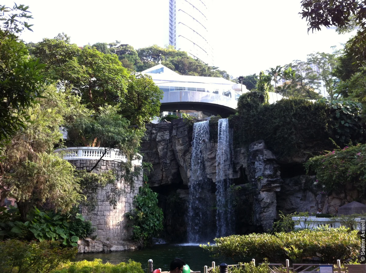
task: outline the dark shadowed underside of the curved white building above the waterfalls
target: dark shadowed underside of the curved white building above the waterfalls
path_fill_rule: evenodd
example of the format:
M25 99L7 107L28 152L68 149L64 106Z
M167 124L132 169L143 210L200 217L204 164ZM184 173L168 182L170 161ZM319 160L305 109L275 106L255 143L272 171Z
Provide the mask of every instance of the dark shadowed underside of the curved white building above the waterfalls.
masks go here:
M227 118L229 115L236 113L235 109L225 107L223 105L213 104L213 103L202 103L202 102L161 103L160 112L173 111L173 110L203 111L203 112L208 112L213 115L220 115L223 118Z

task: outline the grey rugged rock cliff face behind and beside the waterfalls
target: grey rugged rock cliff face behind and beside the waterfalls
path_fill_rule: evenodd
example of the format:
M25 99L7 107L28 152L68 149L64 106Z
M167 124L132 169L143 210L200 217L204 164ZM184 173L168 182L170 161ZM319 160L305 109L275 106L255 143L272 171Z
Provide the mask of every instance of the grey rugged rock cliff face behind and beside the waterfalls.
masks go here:
M192 126L183 119L146 125L146 137L141 145L143 161L153 164L148 174L149 184L159 193L159 204L165 216L165 238L186 241L186 212L190 198ZM211 140L204 155L206 175L212 181L212 200L216 192L217 139ZM263 140L233 151L233 166L229 177L234 183L236 233L265 231L272 227L278 212L335 213L335 208L357 198L354 189L342 193L321 193L314 186L315 177L303 175L302 163L308 155L277 161ZM281 166L280 166L281 164ZM281 171L285 175L281 177ZM208 204L208 209L214 206ZM212 219L216 224L216 219Z

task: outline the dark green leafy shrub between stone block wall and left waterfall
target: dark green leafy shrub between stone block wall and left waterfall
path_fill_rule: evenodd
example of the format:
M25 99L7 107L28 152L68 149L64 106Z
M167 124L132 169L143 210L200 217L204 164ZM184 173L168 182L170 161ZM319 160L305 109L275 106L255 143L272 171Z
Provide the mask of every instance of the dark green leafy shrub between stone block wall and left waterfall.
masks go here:
M134 240L142 247L152 243L152 238L163 230L163 211L158 207L158 194L147 183L139 187L139 194L134 197L136 206L127 216L133 221Z

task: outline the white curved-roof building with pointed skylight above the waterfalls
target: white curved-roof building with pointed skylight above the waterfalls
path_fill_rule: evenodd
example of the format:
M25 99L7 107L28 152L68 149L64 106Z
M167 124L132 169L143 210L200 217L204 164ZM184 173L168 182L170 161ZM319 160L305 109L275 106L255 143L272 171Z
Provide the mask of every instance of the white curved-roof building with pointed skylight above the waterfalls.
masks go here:
M222 77L180 75L162 64L141 73L150 76L164 92L164 97L160 100L160 112L195 110L226 118L236 113L236 99L249 92L245 85ZM273 103L281 98L279 94L270 93L269 102Z

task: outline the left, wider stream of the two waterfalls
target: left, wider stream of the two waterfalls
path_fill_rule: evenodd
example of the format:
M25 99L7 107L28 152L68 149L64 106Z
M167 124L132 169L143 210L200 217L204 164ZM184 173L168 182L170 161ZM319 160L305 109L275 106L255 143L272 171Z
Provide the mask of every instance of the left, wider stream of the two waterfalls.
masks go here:
M212 221L208 213L210 183L205 171L204 155L209 142L209 122L193 124L192 156L188 189L190 194L188 208L188 242L199 243L212 239L206 226Z

